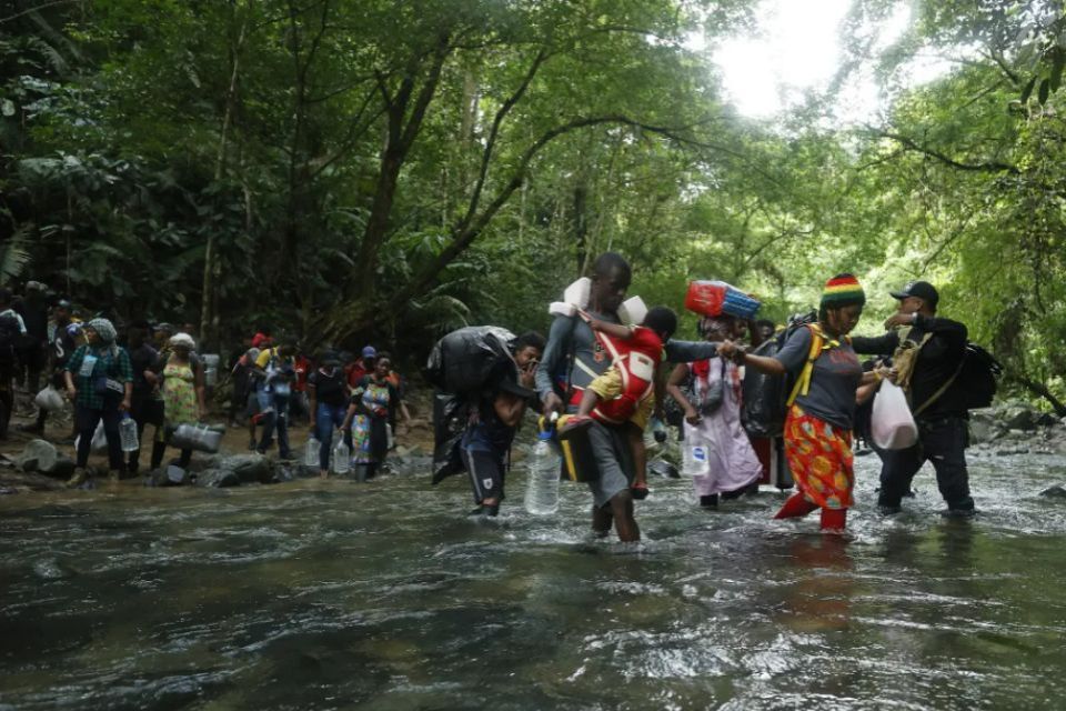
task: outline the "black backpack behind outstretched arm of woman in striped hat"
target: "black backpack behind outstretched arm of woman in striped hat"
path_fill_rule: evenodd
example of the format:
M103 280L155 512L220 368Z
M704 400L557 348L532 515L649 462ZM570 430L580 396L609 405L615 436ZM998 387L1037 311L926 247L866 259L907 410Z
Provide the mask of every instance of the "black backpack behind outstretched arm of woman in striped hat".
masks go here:
M752 353L767 358L776 356L785 342L808 323L818 320L816 312L794 313L788 317L788 326L776 336L763 342ZM795 377L791 374L771 375L754 368L744 370L741 405L741 424L751 437L781 437L785 431L785 417L788 414L788 394L795 387Z

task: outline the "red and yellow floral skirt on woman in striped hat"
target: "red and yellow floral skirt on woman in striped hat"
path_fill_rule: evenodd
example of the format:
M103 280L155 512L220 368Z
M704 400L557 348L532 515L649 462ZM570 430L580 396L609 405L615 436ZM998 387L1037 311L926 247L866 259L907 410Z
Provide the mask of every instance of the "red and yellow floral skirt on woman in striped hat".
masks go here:
M785 458L804 497L822 509L854 504L852 433L792 405L785 420Z

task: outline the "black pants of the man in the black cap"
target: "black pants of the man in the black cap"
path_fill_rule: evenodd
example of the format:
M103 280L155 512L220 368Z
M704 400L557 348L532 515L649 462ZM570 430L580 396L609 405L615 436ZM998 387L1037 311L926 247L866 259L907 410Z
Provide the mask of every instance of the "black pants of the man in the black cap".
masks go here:
M926 461L936 470L936 485L952 509L969 510L969 473L966 471L966 445L969 433L965 418L942 417L918 420L918 443L909 449L879 450L879 505L897 507L911 491L911 481Z

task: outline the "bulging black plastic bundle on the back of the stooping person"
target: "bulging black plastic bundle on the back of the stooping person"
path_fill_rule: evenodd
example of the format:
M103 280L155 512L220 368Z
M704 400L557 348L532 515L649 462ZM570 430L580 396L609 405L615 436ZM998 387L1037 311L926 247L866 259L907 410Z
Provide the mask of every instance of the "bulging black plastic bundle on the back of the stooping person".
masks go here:
M473 397L492 378L510 374L517 381L512 341L514 333L495 326L469 326L452 331L430 352L426 380L444 392Z

